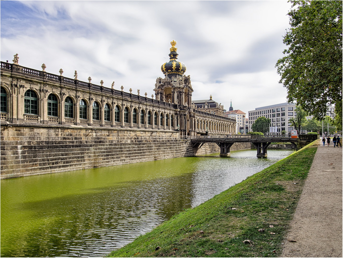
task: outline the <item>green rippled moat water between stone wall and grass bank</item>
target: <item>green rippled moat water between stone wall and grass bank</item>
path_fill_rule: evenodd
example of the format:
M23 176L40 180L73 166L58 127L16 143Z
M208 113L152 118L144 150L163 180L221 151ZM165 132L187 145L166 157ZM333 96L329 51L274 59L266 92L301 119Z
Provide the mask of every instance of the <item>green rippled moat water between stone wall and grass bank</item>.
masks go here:
M256 150L1 180L1 257L104 256L293 151Z

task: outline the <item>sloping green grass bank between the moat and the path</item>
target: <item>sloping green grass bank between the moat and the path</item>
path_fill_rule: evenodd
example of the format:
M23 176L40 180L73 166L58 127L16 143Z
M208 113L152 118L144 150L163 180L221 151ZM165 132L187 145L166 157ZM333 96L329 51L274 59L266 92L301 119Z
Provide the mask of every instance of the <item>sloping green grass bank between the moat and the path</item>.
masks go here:
M280 256L317 146L308 144L109 256Z

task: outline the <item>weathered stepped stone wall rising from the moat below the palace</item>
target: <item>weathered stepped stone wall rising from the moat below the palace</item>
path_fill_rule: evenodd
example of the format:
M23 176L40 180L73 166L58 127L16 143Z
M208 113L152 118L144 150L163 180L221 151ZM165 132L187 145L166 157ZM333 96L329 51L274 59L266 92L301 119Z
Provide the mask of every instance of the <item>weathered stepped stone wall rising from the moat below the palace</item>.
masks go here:
M1 179L220 152L175 131L1 125ZM250 149L235 143L233 150Z

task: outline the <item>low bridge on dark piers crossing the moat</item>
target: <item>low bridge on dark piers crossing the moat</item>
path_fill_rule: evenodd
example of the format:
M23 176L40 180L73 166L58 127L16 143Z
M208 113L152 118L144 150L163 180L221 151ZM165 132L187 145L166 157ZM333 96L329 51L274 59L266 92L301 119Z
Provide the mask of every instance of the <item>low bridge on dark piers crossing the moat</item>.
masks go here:
M257 157L267 157L267 147L272 142L291 142L295 147L298 138L285 135L225 135L225 136L192 136L190 137L193 148L200 149L205 142L214 142L220 147L220 156L229 156L230 147L235 142L251 142L257 148Z

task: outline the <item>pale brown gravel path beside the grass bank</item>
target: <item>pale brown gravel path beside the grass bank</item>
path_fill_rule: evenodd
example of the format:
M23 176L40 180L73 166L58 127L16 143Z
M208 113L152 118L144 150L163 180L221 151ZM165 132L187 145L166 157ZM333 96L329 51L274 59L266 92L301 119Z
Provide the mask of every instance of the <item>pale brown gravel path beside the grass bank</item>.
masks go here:
M282 257L342 257L342 148L333 143L319 141Z

